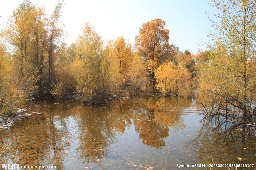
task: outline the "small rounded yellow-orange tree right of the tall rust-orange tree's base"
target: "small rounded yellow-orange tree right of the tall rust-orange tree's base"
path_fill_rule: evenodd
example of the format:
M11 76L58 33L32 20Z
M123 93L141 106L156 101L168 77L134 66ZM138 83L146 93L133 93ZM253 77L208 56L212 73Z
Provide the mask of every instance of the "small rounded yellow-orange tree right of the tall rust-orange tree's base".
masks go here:
M180 95L190 86L191 73L182 65L175 65L174 62L162 64L155 71L156 87L161 89L164 95Z

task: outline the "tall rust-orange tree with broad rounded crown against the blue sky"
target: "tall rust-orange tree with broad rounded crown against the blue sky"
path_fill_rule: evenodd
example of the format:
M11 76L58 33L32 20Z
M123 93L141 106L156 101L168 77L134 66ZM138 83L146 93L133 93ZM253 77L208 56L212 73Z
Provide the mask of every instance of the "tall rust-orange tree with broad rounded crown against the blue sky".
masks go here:
M156 18L143 23L139 35L135 37L134 47L146 61L151 79L154 80L155 70L164 62L174 59L179 48L169 44L169 30L164 29L165 21Z

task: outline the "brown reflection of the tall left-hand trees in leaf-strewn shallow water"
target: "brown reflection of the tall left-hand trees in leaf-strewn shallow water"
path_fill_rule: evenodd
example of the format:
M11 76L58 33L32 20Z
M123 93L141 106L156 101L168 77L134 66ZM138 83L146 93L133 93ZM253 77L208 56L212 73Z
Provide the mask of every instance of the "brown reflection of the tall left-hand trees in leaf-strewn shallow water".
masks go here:
M65 151L71 147L72 140L62 140L72 136L67 116L48 106L44 111L33 111L36 116L28 116L2 133L0 143L9 145L5 153L1 154L0 163L13 162L26 166L57 163L58 170L65 169L63 162L68 157ZM56 126L57 121L63 123L61 128Z

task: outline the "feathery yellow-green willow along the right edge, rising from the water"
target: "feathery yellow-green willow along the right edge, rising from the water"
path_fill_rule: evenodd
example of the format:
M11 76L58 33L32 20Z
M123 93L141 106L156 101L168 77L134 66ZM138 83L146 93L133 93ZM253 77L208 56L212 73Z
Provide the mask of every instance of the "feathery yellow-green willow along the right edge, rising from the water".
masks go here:
M227 111L230 106L244 115L255 111L256 2L213 0L217 13L207 44L210 60L201 67L201 91Z

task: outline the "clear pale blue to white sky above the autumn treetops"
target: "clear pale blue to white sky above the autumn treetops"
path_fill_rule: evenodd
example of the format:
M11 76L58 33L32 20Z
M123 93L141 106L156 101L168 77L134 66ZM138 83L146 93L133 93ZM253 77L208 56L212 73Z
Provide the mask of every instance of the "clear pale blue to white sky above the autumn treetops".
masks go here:
M7 22L12 10L20 0L1 2L0 26ZM33 4L45 6L46 14L51 14L58 0L34 0ZM211 22L206 13L215 9L210 0L65 0L61 20L68 32L66 42L75 42L82 31L81 24L88 21L105 40L114 40L120 35L134 44L134 37L144 22L162 18L170 31L170 44L174 43L180 51L189 49L196 53L198 48L207 50L201 40L208 41L207 32ZM206 11L206 13L205 13Z

